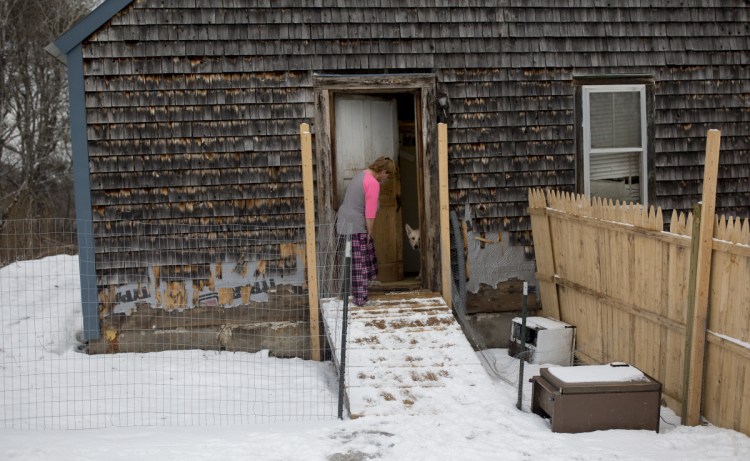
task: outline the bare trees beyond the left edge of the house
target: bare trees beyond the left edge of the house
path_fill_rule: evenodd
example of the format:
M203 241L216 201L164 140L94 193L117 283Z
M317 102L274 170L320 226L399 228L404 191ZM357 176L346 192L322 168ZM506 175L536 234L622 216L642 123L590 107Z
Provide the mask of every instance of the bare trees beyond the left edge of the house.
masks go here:
M67 71L44 47L90 0L0 0L0 232L9 218L67 217Z

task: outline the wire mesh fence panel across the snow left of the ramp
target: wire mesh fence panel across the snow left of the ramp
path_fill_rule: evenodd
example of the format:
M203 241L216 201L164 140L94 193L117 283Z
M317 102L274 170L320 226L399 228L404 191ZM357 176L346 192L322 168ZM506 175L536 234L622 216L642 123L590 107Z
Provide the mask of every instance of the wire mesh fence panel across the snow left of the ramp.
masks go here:
M8 221L0 238L1 427L336 417L335 367L310 359L328 354L310 335L297 229L131 222L94 240L76 227ZM81 252L93 260L75 254L79 241L95 242ZM336 253L320 245L323 294L341 286ZM96 280L93 305L82 272ZM87 309L98 331L84 330Z

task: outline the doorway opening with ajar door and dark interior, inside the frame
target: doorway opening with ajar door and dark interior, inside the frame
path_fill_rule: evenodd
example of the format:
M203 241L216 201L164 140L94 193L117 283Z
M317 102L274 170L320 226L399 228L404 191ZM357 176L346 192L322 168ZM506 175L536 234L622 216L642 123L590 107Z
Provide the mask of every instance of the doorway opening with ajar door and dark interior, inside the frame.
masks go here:
M406 225L421 233L418 92L341 92L333 94L332 152L334 206L349 180L381 155L394 159L399 174L381 186L374 240L377 280L385 289L420 285L421 246L410 241Z

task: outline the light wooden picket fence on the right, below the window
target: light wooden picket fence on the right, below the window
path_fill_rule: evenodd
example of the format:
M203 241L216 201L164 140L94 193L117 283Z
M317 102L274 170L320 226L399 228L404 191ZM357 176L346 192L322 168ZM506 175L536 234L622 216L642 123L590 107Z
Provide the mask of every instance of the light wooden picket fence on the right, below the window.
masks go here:
M529 205L543 312L577 327L577 360L628 362L662 383L683 422L697 423L685 419L692 400L698 416L750 435L748 220L711 209L699 228L696 208L665 232L653 207L539 189ZM704 228L709 266L698 269Z

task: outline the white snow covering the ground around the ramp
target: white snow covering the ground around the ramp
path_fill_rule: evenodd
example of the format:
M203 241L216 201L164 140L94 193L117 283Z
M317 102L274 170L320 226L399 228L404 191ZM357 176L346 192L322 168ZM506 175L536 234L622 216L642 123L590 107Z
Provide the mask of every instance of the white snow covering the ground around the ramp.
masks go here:
M2 460L750 459L749 437L681 426L666 407L658 433L553 433L529 411L527 381L546 365L525 364L518 410L519 363L505 349L477 353L487 385L450 387L420 415L343 421L330 363L267 351L81 354L77 266L53 256L0 269Z

